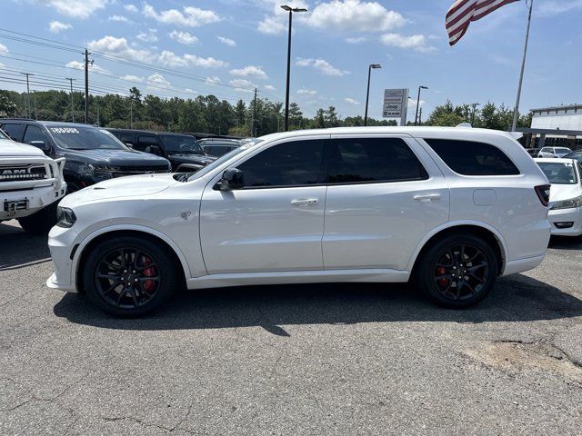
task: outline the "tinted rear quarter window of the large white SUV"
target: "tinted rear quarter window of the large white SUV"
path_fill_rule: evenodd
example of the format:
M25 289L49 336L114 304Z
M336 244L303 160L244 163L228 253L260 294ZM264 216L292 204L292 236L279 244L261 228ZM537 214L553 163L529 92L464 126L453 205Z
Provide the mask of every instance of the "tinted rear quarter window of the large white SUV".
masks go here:
M425 139L455 173L463 175L517 175L519 170L495 145L449 139Z

